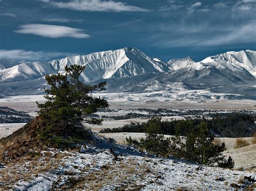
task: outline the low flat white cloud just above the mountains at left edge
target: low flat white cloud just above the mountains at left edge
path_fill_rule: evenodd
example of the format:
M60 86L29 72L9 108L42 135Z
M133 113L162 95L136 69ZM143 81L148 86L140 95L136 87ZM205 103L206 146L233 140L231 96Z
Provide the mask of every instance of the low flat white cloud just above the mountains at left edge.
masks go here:
M43 51L26 51L24 49L0 49L0 59L9 60L27 60L27 61L49 61L50 59L56 59L60 56L69 56L72 53L61 52L43 52Z

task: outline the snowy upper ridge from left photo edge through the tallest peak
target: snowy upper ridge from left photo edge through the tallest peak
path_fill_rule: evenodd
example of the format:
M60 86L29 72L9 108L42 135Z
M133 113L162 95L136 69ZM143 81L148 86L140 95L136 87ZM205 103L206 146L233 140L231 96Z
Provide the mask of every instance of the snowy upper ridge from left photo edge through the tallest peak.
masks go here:
M155 61L137 48L122 48L116 51L96 52L88 55L68 56L51 62L12 62L1 65L0 82L15 82L43 77L46 74L63 73L65 66L86 65L82 73L85 81L132 77L144 73L169 72L167 63Z

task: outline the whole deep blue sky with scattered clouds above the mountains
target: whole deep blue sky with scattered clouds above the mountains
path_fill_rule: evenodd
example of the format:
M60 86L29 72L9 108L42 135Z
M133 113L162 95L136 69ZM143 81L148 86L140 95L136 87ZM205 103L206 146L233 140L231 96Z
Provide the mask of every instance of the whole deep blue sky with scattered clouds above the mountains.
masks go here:
M0 0L0 58L45 60L123 47L196 61L256 49L256 0Z

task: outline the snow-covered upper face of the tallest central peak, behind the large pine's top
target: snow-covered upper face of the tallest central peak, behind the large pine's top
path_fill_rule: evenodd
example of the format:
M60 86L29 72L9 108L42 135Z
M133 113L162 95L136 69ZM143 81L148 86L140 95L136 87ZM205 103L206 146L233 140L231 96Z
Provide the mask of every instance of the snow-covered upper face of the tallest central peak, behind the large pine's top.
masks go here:
M82 76L85 81L109 79L116 77L131 77L143 73L168 72L165 62L151 59L137 48L122 48L116 51L91 53L82 56L69 56L50 62L52 66L64 71L66 65L86 65Z

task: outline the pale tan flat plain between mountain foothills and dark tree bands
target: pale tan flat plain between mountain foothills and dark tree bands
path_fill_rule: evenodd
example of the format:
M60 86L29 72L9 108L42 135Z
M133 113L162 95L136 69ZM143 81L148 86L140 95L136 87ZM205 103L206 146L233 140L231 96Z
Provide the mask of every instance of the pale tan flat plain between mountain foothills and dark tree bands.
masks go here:
M96 94L96 96L106 96L106 94ZM111 97L112 96L112 97ZM120 100L115 94L107 97L110 109L215 109L215 110L234 110L234 109L254 109L256 110L256 100L204 100L202 102L168 101L156 98L145 98L143 101ZM140 94L134 94L139 97ZM36 101L44 102L43 95L12 96L0 99L0 106L6 106L18 111L35 113L37 111Z

